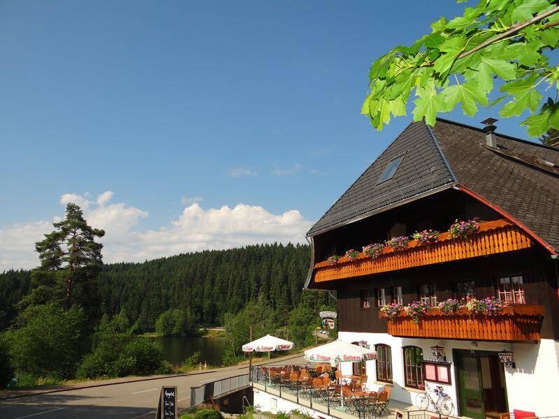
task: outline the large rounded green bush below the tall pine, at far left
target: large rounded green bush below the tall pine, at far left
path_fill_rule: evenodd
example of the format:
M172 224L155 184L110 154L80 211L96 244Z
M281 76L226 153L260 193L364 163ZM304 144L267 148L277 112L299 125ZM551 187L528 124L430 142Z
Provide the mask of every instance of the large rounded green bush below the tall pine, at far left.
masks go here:
M68 310L56 303L27 307L5 335L13 366L31 376L70 378L82 353L84 321L82 309L76 306Z

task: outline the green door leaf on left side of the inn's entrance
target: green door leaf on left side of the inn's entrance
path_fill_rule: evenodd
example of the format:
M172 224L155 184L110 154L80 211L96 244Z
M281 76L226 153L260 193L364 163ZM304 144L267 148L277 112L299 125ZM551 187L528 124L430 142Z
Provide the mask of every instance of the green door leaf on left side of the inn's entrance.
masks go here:
M456 352L456 376L460 415L485 419L481 367L475 353Z

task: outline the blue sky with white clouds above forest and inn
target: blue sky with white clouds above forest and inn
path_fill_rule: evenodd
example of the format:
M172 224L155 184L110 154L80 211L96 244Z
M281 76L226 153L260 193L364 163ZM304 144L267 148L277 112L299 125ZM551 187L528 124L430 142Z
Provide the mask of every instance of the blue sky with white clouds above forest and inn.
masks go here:
M109 263L305 243L411 122L360 115L372 61L464 7L1 1L0 272L37 265L68 202ZM498 131L527 138L520 120Z

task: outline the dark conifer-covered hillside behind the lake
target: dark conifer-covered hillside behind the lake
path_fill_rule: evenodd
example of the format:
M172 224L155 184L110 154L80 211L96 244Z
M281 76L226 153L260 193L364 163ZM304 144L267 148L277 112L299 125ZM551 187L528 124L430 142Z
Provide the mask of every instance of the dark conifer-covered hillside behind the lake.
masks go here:
M179 308L200 325L222 325L261 293L277 311L299 301L309 267L307 245L263 244L185 253L143 263L112 263L99 275L99 314L121 309L135 332L154 330L159 314ZM29 271L0 274L0 326L15 316L13 305L29 290Z

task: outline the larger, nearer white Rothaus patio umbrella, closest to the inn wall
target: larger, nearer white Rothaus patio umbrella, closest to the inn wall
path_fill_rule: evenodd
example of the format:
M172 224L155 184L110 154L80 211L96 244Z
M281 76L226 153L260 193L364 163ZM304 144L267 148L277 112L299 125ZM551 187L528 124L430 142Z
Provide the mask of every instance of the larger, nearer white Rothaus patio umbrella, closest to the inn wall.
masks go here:
M372 349L363 348L337 339L326 345L305 351L305 360L309 362L330 362L330 365L340 365L342 362L356 362L372 360L377 358L377 353ZM341 372L341 365L339 366ZM340 395L342 396L342 409L344 407L344 386L340 383Z

